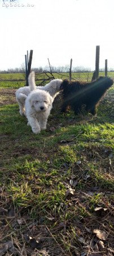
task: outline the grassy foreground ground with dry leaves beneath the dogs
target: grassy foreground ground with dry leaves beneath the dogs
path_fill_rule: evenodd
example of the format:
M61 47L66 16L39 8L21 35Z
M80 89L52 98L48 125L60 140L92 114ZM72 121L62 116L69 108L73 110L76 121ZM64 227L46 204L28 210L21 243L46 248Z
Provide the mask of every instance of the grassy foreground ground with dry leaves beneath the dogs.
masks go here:
M113 90L97 117L55 100L38 135L1 90L0 255L113 255Z

